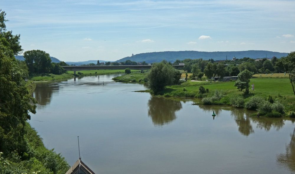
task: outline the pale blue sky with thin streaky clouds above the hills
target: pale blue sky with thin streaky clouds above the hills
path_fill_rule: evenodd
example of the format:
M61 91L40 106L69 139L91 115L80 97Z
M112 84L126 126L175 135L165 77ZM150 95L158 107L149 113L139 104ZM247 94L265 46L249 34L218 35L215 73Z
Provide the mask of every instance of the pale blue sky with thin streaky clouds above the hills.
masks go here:
M294 0L1 0L24 51L115 61L159 51L295 51Z

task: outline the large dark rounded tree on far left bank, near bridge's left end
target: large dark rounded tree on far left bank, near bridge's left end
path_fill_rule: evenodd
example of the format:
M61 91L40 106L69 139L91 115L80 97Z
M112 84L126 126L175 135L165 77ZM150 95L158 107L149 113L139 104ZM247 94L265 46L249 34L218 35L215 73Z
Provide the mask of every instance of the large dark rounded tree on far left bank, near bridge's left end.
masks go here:
M24 59L29 68L30 75L33 73L49 73L51 59L49 54L42 50L31 50L24 52Z

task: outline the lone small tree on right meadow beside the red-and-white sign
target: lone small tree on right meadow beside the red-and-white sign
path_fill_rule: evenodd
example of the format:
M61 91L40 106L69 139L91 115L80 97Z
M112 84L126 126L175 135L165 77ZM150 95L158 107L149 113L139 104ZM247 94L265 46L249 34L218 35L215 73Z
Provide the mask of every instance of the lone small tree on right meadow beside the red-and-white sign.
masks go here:
M245 89L245 94L249 94L249 83L250 78L252 77L253 73L248 70L243 70L238 74L238 79L235 82L235 85L241 91Z

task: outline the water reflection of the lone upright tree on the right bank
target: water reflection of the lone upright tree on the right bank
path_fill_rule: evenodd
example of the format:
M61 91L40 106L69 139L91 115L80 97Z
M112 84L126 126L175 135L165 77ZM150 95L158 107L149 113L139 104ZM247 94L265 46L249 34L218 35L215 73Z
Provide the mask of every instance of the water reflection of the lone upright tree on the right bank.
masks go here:
M230 115L234 117L235 122L238 125L238 130L242 135L249 136L254 133L251 121L247 112L242 109L232 109Z

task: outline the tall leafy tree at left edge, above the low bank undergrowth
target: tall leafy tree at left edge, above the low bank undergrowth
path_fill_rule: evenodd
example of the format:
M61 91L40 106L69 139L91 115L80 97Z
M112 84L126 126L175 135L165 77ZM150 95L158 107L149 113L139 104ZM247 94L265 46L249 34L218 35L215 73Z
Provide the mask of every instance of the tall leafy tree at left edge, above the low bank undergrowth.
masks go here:
M1 12L1 10L0 10ZM5 28L5 12L0 13L0 152L8 155L27 152L24 126L30 119L29 112L36 113L36 100L29 95L24 73L14 55L21 48L18 40L7 40L2 35ZM32 104L31 104L32 103Z

